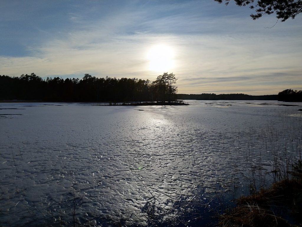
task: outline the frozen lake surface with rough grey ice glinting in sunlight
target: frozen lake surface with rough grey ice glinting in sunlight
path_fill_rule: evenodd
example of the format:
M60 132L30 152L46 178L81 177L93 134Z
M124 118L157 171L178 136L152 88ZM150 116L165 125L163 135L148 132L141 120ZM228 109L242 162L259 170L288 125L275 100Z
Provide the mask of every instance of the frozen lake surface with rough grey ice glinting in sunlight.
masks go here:
M301 103L185 101L0 103L1 226L131 216L196 190L208 202L243 191L256 167L269 183L275 157L300 157Z

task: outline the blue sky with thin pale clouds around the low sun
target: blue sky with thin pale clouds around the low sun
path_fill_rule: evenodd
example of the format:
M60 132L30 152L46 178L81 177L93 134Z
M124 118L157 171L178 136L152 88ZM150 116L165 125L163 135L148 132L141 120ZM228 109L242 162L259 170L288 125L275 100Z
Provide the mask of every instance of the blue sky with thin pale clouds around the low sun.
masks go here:
M168 72L182 94L302 90L302 14L275 25L251 13L214 0L1 0L0 74Z

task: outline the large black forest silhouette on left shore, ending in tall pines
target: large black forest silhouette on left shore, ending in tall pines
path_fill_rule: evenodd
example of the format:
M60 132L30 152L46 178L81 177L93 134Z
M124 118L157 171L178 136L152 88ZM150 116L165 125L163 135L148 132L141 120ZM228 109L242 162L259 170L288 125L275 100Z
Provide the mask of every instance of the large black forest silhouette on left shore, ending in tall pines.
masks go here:
M20 77L0 76L0 100L41 100L69 102L141 102L173 101L177 87L173 73L164 73L156 81L137 78L97 78L85 74L82 79L47 77L34 73Z

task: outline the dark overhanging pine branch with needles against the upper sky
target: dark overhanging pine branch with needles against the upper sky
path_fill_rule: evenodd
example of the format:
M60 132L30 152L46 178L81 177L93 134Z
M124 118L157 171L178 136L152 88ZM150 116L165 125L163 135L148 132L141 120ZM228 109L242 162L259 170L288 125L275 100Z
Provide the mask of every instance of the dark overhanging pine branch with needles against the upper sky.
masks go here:
M215 2L223 3L226 5L231 0L214 0ZM251 18L256 20L263 15L270 15L276 13L276 18L281 19L282 22L288 18L294 19L299 13L302 12L302 0L234 0L238 6L247 6L255 10L255 14L251 14Z

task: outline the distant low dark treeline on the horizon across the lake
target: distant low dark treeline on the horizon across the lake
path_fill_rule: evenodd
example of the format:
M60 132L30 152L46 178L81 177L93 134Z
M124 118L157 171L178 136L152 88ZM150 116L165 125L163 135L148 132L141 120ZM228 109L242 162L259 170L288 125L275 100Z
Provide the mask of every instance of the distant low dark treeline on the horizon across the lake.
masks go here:
M177 94L178 99L191 100L278 100L278 95L248 95L248 94Z

